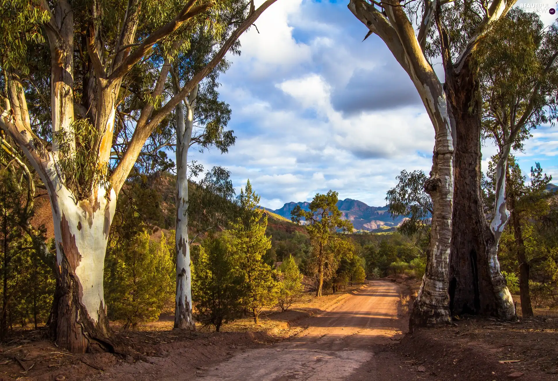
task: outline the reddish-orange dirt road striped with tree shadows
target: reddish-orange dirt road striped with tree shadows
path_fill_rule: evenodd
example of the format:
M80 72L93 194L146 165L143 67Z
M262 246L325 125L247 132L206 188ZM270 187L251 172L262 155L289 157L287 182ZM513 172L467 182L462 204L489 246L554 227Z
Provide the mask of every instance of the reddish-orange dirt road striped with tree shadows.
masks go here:
M372 348L388 343L389 337L401 332L398 308L397 284L371 282L320 316L307 319L307 329L294 338L264 348L247 349L196 374L196 378L206 381L388 379L380 373L393 375L393 372L389 372L385 363L378 364ZM397 373L402 371L398 364L394 366Z

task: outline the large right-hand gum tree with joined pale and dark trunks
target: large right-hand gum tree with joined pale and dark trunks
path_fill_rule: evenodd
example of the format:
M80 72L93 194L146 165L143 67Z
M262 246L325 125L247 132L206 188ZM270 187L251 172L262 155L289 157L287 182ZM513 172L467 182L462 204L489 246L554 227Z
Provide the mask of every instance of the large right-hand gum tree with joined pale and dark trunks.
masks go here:
M435 131L432 170L425 182L432 197L432 239L411 328L450 321L450 276L456 279L455 305L471 306L468 312L501 319L514 316L496 252L490 250L503 225L488 225L483 213L481 104L472 55L492 23L505 17L513 4L514 0L404 4L398 0L350 0L348 5L368 27L368 35L379 36L410 76ZM431 60L440 56L444 83L432 69Z

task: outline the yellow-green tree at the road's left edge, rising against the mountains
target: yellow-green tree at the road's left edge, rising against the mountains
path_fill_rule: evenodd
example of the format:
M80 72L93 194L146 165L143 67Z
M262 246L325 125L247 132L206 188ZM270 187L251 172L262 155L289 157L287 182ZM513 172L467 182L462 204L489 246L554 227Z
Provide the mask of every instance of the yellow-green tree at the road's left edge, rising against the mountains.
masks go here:
M353 225L348 220L341 219L341 212L337 208L338 192L329 191L325 195L316 194L310 202L309 211L302 210L300 205L291 211L291 219L295 223L305 220L306 232L312 244L313 261L309 263L311 272L316 274L316 296L322 295L324 280L334 276L339 266L339 256L335 250L343 250L339 243L337 229L352 232Z

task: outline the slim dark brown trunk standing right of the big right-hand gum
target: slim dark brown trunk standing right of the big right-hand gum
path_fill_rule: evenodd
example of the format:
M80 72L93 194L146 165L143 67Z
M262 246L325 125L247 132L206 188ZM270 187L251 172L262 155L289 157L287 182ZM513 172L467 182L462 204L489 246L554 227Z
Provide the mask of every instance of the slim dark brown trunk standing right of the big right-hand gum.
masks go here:
M507 169L507 177L509 181L509 168ZM511 187L509 187L511 188ZM519 264L519 298L521 301L521 315L522 317L533 316L533 306L531 305L531 293L529 290L529 277L531 272L531 266L527 261L525 255L525 242L523 241L523 232L521 229L521 219L519 212L516 209L516 194L510 189L507 202L509 202L509 209L513 237L516 240L517 247L517 263Z

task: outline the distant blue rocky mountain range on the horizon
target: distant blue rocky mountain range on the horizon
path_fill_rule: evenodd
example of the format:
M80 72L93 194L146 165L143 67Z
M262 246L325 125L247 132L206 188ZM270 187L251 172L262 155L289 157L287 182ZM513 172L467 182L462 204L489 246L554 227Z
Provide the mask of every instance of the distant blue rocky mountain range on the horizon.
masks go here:
M295 206L300 205L300 208L309 210L310 202L287 202L282 208L268 209L264 208L271 213L278 214L286 219L291 219L291 211ZM387 211L386 206L369 206L362 201L345 199L337 202L337 207L343 214L343 219L350 220L357 230L367 230L371 232L376 229L386 229L393 226L401 225L403 217L393 219Z

